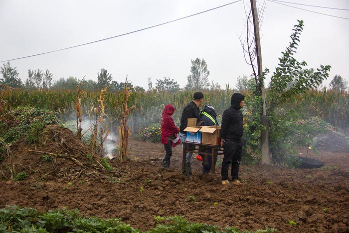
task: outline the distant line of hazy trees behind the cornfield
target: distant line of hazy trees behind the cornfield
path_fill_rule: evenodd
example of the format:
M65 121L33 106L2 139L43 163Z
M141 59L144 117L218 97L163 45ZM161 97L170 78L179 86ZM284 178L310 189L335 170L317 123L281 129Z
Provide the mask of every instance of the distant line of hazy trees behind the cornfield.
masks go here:
M117 82L113 79L112 75L108 73L108 70L101 69L97 73L97 81L78 79L74 76L67 78L60 78L56 81L52 81L52 73L46 69L43 72L40 69L28 70L28 76L24 82L21 81L19 73L16 67L11 67L10 63L3 63L0 67L0 83L14 87L24 88L29 90L34 89L52 89L52 90L75 90L77 85L80 85L81 89L86 91L101 90L105 86L109 86L109 91L119 91L125 88L124 82ZM187 76L187 84L184 88L180 88L179 84L170 77L164 77L156 79L156 83L153 86L152 78L148 78L148 89L158 91L176 92L179 90L217 90L221 89L221 86L214 81L209 82L208 76L210 72L207 68L207 63L204 59L196 58L191 60L190 74ZM250 78L246 75L239 76L236 81L236 89L238 91L249 89ZM145 91L143 87L133 86L128 82L127 85L133 91ZM292 83L290 83L292 85ZM226 85L229 88L229 85ZM346 91L348 89L348 82L341 76L336 75L330 83L330 89L335 91Z

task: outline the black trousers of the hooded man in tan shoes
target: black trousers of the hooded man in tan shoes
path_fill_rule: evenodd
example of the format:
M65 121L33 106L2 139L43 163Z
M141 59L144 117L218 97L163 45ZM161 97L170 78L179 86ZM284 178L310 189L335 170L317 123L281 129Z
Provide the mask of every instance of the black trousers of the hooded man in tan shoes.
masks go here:
M237 180L239 178L239 167L242 158L241 142L231 140L224 141L223 147L223 163L222 163L222 180L228 180L228 170L231 164L231 178Z

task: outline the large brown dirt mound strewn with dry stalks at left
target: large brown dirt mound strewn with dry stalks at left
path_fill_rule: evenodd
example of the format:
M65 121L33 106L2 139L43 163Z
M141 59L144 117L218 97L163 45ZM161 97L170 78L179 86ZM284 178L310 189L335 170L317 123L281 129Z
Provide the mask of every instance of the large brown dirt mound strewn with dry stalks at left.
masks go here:
M6 158L0 163L0 176L19 180L16 174L25 172L30 180L96 177L107 173L101 157L92 152L66 128L48 125L39 135L37 144L20 139L7 147ZM113 175L121 174L115 170ZM22 173L23 174L23 173Z

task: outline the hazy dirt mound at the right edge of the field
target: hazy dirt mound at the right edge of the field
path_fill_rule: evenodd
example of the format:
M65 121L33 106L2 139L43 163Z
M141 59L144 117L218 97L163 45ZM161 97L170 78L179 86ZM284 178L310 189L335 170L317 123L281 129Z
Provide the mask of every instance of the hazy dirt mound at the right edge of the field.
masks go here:
M314 139L315 146L329 152L349 152L349 140L344 135L326 134Z

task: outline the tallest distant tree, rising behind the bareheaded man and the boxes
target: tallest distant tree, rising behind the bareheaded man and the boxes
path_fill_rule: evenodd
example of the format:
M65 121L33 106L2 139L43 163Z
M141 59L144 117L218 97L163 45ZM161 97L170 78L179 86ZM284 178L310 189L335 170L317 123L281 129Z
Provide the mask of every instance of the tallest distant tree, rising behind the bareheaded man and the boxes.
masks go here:
M209 70L207 69L207 63L204 59L196 58L191 60L190 67L191 74L187 76L188 83L185 88L187 89L205 89L208 86Z

